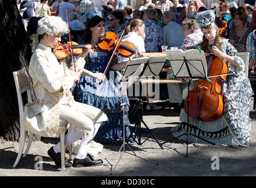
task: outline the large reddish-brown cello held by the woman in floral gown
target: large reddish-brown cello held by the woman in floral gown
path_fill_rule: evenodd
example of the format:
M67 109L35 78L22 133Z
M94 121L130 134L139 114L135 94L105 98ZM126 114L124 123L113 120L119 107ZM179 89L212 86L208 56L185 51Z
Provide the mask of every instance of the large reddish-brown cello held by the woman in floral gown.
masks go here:
M218 34L214 41L217 44ZM195 82L194 88L189 90L188 103L184 103L184 110L189 116L202 122L211 122L221 117L224 104L221 94L221 85L226 81L228 65L224 59L210 53L207 59L208 77L211 82L199 79Z

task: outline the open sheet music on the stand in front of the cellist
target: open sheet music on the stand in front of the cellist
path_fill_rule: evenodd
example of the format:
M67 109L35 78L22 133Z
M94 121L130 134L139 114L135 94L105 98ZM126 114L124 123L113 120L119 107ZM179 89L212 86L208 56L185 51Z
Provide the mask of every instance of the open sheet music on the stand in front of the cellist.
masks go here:
M167 51L167 58L171 63L172 72L176 78L190 78L192 77L207 77L207 62L205 60L204 52L197 49L190 49L187 51ZM189 75L186 63L188 62L188 69L191 72Z

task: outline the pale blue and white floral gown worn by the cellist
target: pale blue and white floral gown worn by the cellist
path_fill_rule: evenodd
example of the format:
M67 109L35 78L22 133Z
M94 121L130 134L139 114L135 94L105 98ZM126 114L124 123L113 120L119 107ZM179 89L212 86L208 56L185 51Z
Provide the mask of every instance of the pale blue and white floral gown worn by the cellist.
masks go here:
M221 93L224 95L224 112L222 116L213 122L202 122L198 133L198 121L189 117L189 132L198 135L217 145L249 146L251 136L250 102L252 88L248 76L244 72L244 62L238 57L237 50L227 39L222 39L221 51L234 57L240 67L228 64L227 82L222 85ZM187 130L187 114L184 109L180 115L181 125L172 128L175 137ZM180 139L187 140L187 136ZM190 135L189 141L195 142L196 137ZM197 139L197 142L207 143Z

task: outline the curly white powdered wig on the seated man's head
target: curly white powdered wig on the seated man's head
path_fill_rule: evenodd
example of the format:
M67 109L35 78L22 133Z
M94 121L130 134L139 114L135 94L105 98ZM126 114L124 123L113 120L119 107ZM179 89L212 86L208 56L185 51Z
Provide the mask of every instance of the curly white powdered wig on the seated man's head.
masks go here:
M47 33L54 36L59 33L68 33L68 24L58 16L46 16L39 19L36 33L42 35Z

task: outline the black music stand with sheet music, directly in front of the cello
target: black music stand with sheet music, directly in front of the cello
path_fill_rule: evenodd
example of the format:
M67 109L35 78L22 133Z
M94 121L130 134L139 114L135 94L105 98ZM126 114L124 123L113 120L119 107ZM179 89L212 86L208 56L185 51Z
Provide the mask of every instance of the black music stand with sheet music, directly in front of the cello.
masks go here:
M186 52L186 51L185 51ZM168 140L166 142L161 143L161 145L164 145L167 142L171 142L174 139L178 139L178 137L187 136L187 153L186 157L188 157L188 137L189 135L197 137L198 139L204 140L205 142L211 143L212 145L215 145L214 143L203 139L202 137L198 135L194 135L189 132L188 125L189 125L189 86L191 85L191 82L193 80L197 79L205 79L211 82L207 78L207 62L205 61L204 52L198 51L198 50L190 50L190 53L186 54L185 52L177 52L180 53L178 56L177 54L173 54L173 52L169 52L169 62L171 65L172 73L174 74L174 78L188 78L188 97L185 102L187 102L188 105L188 112L187 112L187 132L183 133L177 137L174 137L171 140ZM194 52L194 53L193 53ZM200 53L199 53L200 52ZM189 54L193 54L193 56L189 56ZM200 127L198 129L198 133L200 132Z

